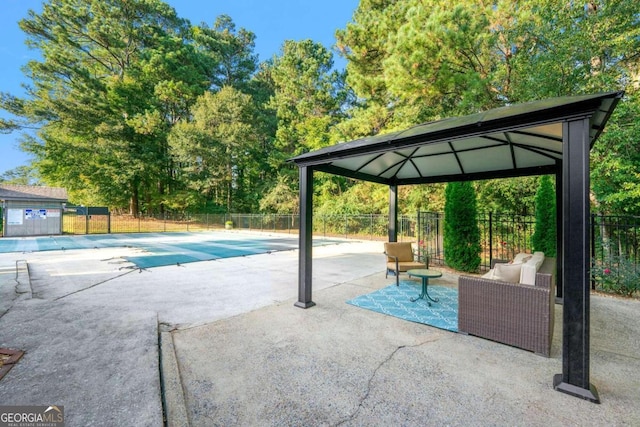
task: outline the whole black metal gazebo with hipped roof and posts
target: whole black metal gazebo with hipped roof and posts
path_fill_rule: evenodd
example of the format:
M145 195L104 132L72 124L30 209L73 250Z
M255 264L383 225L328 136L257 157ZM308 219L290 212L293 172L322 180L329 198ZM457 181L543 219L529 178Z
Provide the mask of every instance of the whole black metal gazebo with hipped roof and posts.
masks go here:
M554 174L557 286L563 302L558 391L599 403L589 380L589 152L623 92L567 96L423 123L292 158L300 175L297 307L312 300L313 172L389 186L389 241L398 186Z

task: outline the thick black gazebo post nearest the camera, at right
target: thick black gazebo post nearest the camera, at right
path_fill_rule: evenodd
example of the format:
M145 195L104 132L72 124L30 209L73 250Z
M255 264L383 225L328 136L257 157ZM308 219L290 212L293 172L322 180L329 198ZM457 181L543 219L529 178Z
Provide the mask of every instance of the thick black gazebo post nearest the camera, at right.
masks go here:
M585 117L563 124L562 374L557 391L600 403L589 383L589 128Z

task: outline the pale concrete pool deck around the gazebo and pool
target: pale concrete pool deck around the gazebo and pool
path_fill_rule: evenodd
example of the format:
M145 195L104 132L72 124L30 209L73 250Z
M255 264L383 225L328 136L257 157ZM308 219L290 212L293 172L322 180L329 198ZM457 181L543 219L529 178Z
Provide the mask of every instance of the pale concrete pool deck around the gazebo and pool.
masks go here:
M315 247L306 310L296 250L131 268L139 251L0 254L0 347L25 350L3 405L68 426L640 425L638 300L591 298L597 405L552 388L560 305L544 358L346 304L393 282L380 242Z

